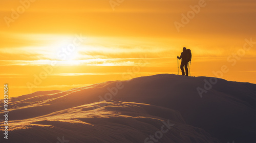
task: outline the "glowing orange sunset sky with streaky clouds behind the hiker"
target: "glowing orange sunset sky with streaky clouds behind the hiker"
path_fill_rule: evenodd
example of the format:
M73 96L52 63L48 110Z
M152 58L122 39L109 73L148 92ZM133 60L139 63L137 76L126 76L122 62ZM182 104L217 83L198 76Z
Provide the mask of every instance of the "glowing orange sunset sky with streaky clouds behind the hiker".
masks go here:
M226 66L222 78L256 83L256 1L0 3L0 87L8 83L10 97L177 74L184 46L192 51L191 76L218 77Z

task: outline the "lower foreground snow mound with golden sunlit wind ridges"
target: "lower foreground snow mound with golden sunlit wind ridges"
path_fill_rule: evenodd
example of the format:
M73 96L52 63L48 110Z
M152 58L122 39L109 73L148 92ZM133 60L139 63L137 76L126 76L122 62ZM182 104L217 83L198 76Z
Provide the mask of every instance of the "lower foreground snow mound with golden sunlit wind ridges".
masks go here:
M100 103L105 106L100 107ZM157 112L166 113L167 119ZM175 110L112 100L13 121L11 125L12 142L57 142L57 137L62 136L70 142L144 142L162 126L164 133L159 134L159 139L155 137L160 142L218 142L204 130L185 124Z

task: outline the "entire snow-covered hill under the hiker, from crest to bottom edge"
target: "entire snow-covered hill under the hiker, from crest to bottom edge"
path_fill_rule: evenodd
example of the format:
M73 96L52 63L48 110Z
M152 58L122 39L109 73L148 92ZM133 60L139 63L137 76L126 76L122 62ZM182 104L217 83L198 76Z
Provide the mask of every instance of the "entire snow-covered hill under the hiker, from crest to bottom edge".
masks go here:
M256 142L255 93L174 74L35 92L10 99L8 142Z

